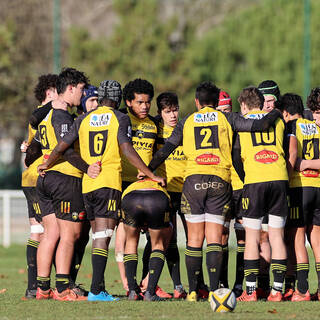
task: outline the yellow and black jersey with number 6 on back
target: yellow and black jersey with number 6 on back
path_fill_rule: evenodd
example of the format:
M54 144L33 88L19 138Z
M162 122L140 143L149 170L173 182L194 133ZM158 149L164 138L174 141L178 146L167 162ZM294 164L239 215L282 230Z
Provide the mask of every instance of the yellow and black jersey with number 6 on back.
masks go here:
M84 174L82 192L100 188L121 191L120 145L131 143L131 124L127 115L102 106L79 116L63 141L72 144L79 138L81 158L88 164L101 163L101 172L95 179Z

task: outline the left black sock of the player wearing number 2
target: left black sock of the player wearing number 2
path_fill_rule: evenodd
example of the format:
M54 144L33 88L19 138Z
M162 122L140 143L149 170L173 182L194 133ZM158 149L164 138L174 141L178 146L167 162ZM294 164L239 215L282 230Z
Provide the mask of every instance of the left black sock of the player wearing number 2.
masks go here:
M187 246L185 255L189 293L191 293L192 291L197 291L198 289L198 277L202 270L202 248Z

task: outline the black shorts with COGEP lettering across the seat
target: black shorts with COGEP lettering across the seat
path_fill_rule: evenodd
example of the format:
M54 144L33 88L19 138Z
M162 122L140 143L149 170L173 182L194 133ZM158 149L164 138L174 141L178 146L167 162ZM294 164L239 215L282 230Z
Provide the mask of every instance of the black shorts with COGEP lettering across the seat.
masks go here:
M181 212L185 215L213 214L228 218L231 197L230 183L218 176L195 174L184 182Z

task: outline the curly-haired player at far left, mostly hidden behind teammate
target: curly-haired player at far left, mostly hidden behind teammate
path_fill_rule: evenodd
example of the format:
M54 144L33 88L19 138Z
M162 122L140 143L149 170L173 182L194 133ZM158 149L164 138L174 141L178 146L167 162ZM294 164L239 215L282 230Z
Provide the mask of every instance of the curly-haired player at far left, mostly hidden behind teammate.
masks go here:
M38 83L34 89L35 98L39 101L38 108L57 98L56 81L57 75L46 74L38 79ZM27 242L27 266L28 266L28 287L25 292L26 299L36 297L37 292L37 249L40 243L43 227L41 225L40 207L36 192L36 183L38 178L37 166L42 162L41 155L38 152L29 152L29 145L32 143L36 130L28 126L28 139L21 145L21 151L27 152L25 158L26 170L22 173L21 186L28 203L30 238Z

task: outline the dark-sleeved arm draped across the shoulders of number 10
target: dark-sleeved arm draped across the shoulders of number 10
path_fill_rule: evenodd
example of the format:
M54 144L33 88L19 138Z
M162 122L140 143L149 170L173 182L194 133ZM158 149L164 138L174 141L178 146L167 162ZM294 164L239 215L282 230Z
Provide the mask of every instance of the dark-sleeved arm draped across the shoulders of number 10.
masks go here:
M273 109L261 119L246 119L237 112L224 113L233 131L256 132L268 130L274 122L281 117L278 109Z

